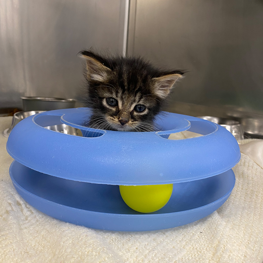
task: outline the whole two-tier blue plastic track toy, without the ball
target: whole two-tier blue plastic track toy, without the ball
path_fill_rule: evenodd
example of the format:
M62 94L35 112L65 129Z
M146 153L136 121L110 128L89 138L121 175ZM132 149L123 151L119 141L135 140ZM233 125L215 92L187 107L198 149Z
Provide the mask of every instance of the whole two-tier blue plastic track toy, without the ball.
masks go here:
M43 213L97 229L157 230L204 218L231 194L231 168L240 150L220 125L167 112L156 118L161 131L98 130L83 126L90 114L89 108L39 113L23 119L9 135L12 182ZM62 126L78 132L52 128ZM203 136L168 139L186 130ZM164 184L173 184L171 197L151 213L131 209L119 190L120 185Z

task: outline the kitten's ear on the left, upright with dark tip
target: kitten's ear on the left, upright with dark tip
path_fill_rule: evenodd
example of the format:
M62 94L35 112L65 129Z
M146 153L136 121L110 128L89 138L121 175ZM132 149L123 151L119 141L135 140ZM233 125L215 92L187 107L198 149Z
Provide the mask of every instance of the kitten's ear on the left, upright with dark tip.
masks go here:
M81 58L86 59L87 78L98 82L107 82L112 70L95 58L95 54L89 51L81 51Z

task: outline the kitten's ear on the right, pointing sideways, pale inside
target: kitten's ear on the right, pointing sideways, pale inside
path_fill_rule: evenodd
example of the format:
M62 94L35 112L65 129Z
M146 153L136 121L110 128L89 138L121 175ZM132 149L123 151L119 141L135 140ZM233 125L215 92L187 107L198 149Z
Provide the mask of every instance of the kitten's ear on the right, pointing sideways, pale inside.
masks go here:
M182 74L168 74L159 78L153 78L154 93L165 99L173 88L176 80L183 78Z

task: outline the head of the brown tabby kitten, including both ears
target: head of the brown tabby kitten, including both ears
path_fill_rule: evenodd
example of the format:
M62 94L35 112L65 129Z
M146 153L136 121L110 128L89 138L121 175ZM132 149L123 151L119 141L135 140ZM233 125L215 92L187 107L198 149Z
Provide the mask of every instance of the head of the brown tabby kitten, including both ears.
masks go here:
M88 126L117 131L153 131L153 120L180 70L160 71L141 58L102 57L80 52L86 59L85 104L93 109Z

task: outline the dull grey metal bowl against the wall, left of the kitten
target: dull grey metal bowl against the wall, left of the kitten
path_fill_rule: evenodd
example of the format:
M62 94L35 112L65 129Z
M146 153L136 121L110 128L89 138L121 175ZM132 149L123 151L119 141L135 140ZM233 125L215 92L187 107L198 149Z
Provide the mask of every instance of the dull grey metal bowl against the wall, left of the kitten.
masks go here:
M21 97L24 111L74 108L77 100L45 97Z

